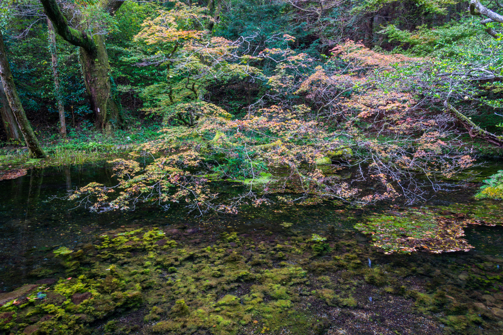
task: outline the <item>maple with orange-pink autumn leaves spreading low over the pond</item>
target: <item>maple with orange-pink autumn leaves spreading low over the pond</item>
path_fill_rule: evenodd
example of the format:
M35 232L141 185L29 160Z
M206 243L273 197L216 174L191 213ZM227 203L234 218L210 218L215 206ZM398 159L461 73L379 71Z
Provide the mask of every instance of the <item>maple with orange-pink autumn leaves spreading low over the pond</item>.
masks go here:
M176 21L170 22L173 27ZM146 27L157 32L150 22ZM169 29L152 33L153 41L179 41L179 30ZM425 117L424 110L414 106L411 94L382 87L380 73L423 59L377 55L361 44L347 42L333 50L333 59L317 65L308 55L289 48L266 48L256 56L239 55L229 51L238 49L229 41L219 39L221 44L213 44L205 35L196 30L183 33L185 42L175 52L180 52L179 58L170 51L171 58L163 60L171 67L168 73L186 73L185 68L177 68L178 62L198 63L193 67L197 71L185 74L182 80L185 90L194 88L197 92L204 89L204 81L196 86L199 78L210 74L225 81L222 68L239 73L242 67L250 69L246 62L268 60L276 65L269 76L258 70L243 72L268 85L260 103L248 106L244 117L234 118L194 91L187 93L192 102L176 103L170 97L176 87L172 86L158 103L159 107L162 103L173 106L164 109L164 135L145 144L141 151L174 154L156 159L144 169L133 161L116 162L117 188L122 191L115 200L104 196L114 188L96 184L78 190L74 196L98 194L95 209L127 209L128 201L140 199L165 204L183 198L200 213L208 209L234 212L240 204L251 201L260 205L272 201L268 195L278 193L287 195L281 196L281 201L305 203L325 199L369 203L400 198L410 203L424 198L427 189L448 189L450 183L445 179L473 164L454 130L446 127L444 114ZM201 38L206 38L204 47ZM187 57L187 53L196 51L209 55L211 62L200 56ZM320 168L332 161L346 162L347 168L354 169L352 180ZM215 179L239 181L243 193L215 202L216 194L208 187ZM374 182L375 191L362 192L358 181Z

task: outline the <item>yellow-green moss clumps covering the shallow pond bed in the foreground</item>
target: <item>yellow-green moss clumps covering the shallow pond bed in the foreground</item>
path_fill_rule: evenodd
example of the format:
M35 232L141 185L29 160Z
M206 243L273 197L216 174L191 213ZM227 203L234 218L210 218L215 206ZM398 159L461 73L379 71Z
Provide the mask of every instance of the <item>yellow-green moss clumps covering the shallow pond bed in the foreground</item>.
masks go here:
M341 313L349 313L350 317L353 313L348 310L358 307L356 298L361 298L360 290L370 290L367 294L376 299L380 294L408 294L416 300L416 313L442 312L446 318L461 315L465 317L461 321L471 320L472 305L457 302L462 300L443 283L435 282L432 288L439 288L435 293L411 290L412 285L405 278L411 274L433 273L435 265L415 264L414 270L407 261L407 271L404 271L405 265L389 259L389 267L369 269L362 263L369 257L368 252L355 241L339 242L331 257L319 258L310 247L323 242L310 241L311 236L300 234L288 242L270 244L226 233L211 242L211 246L192 245L182 240L178 249L168 250L154 244L162 238L158 234L160 230L149 232L144 229L131 235L110 234L115 238L108 240L107 248L80 255L80 266L69 270L80 274L71 275L71 279L65 277L44 291L48 292L47 298L37 301L38 305L29 302L23 307L12 306L16 308L18 324L32 324L31 317L38 320L50 313L57 317L45 321L49 325L44 329L62 329L64 320L68 328L61 331L62 335L83 334L82 329L88 322L118 320L125 313L141 308L148 311L142 316L145 333L238 335L261 333L263 329L266 329L264 333L275 335L286 330L295 334L323 333L330 323L313 310L337 305ZM125 242L125 239L135 243ZM142 242L136 243L135 239ZM226 253L229 243L236 244L231 247L233 253L230 255ZM250 250L254 251L252 257ZM343 250L351 250L351 253ZM278 262L280 253L284 259ZM384 264L375 257L376 264ZM64 260L65 264L69 262L74 260ZM475 264L480 267L469 267L467 271L474 278L492 282L491 287L494 287L501 283L501 278L490 272L498 262L479 260ZM482 271L487 272L487 276L482 275ZM385 287L379 290L363 280ZM465 282L470 285L473 281ZM451 301L446 291L458 300ZM50 292L61 294L63 300L51 298ZM71 302L74 293L85 292L90 292L92 299L78 305ZM388 299L394 298L382 300ZM367 301L365 298L362 304ZM4 307L0 307L0 312ZM127 333L131 329L120 322L115 325L112 330L113 323L110 323L111 333ZM466 323L466 329L475 329L475 325L474 319ZM11 323L9 327L12 326Z

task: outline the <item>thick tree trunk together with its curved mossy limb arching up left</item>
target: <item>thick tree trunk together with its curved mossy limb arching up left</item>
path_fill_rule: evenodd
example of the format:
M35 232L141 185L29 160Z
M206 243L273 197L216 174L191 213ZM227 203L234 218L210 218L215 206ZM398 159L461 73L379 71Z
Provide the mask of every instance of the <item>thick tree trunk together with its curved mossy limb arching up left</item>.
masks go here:
M96 126L105 133L116 129L121 125L122 118L120 102L112 93L111 68L105 47L105 36L91 36L70 28L55 0L40 0L40 2L56 32L68 43L80 47L82 75ZM123 3L122 0L103 0L100 4L113 16Z

